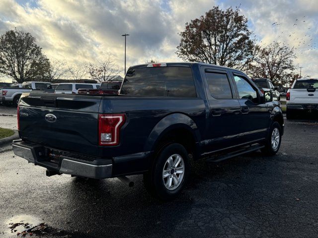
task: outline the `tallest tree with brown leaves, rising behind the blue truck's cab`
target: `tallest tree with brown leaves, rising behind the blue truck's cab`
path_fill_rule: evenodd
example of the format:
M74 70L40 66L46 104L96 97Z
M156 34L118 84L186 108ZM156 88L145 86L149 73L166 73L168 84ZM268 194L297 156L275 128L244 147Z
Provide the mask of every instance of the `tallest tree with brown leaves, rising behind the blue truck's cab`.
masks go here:
M255 41L239 8L222 10L214 6L200 18L187 22L179 35L176 54L182 60L242 69L254 56Z

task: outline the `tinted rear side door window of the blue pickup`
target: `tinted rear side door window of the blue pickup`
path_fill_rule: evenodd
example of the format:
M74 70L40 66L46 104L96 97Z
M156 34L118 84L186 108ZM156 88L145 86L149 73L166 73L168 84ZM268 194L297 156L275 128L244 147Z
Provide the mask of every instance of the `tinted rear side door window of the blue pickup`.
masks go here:
M232 91L226 73L206 72L211 96L216 99L232 99Z

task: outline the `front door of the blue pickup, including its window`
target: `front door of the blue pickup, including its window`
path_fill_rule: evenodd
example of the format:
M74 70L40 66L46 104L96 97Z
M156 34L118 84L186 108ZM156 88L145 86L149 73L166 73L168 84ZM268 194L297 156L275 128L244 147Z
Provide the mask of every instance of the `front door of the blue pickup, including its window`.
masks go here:
M232 73L240 104L240 140L244 142L264 138L270 123L270 112L260 100L260 92L246 75Z

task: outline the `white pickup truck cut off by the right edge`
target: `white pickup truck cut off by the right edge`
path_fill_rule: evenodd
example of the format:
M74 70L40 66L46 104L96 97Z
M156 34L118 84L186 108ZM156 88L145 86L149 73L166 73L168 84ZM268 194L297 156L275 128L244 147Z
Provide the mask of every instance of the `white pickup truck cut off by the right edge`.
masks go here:
M318 79L296 79L286 94L286 118L293 119L298 113L318 112Z

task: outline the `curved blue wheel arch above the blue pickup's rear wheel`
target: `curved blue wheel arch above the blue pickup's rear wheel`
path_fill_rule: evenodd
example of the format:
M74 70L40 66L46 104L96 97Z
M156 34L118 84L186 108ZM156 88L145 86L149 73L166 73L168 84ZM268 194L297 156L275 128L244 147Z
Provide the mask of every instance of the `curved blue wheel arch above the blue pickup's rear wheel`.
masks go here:
M155 125L148 136L145 151L154 151L160 138L169 131L180 128L188 130L193 135L195 142L199 141L200 134L194 120L185 114L173 113L167 115Z

